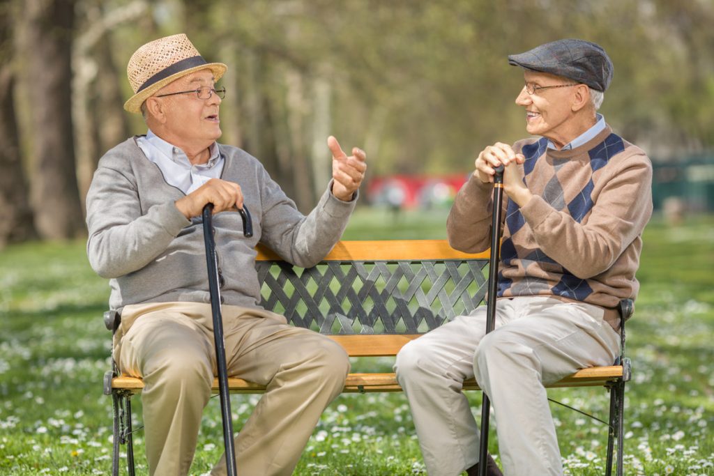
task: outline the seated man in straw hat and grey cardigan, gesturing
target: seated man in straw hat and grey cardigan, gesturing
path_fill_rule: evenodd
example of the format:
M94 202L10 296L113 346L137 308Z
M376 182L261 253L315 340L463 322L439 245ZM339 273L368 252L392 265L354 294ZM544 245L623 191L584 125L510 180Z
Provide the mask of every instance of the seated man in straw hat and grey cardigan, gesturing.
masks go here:
M213 203L221 260L228 372L267 385L236 438L242 475L289 475L316 422L341 392L343 349L263 310L254 268L265 243L299 266L317 263L340 238L366 170L365 153L344 153L336 139L332 176L303 216L261 163L216 142L226 65L207 63L186 35L151 41L131 56L134 96L149 131L99 161L87 196L87 250L110 278L111 308L121 310L114 359L144 378L146 455L152 475L188 474L201 412L211 396L215 355L201 211ZM253 237L243 237L243 205ZM225 458L213 474L225 474Z

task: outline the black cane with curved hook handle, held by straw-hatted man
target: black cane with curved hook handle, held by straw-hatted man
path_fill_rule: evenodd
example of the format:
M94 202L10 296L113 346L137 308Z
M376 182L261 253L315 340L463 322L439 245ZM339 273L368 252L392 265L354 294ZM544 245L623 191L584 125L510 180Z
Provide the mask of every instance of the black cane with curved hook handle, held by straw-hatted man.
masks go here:
M248 208L243 205L243 236L253 236L253 222ZM213 340L216 343L216 363L218 364L218 393L221 395L221 417L223 418L223 445L226 447L226 470L228 476L236 476L236 449L233 447L233 420L231 417L231 396L228 393L228 369L226 368L226 346L223 343L223 317L221 316L221 288L218 285L218 257L216 242L213 240L213 203L203 207L203 241L206 243L206 264L208 265L208 289L211 292L211 313L213 314Z

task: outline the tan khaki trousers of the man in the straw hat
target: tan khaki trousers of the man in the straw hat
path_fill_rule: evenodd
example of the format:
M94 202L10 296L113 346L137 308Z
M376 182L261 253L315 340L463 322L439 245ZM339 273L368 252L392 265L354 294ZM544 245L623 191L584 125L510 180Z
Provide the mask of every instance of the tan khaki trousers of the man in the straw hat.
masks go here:
M325 407L341 392L338 344L274 313L224 305L228 375L267 385L235 439L240 476L290 475ZM114 340L122 372L144 378L151 475L187 475L216 375L211 305L128 305ZM226 474L225 455L213 475Z

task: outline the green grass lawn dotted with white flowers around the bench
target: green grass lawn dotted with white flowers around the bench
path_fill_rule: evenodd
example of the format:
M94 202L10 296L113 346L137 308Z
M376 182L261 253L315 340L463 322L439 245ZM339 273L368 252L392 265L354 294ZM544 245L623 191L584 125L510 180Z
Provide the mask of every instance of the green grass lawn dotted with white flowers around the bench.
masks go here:
M444 238L445 223L446 211L393 216L361 209L345 238ZM625 473L714 475L714 219L678 228L653 221L638 278L642 290L628 323L634 377L626 394ZM111 400L101 391L109 368L110 337L101 321L107 297L106 280L89 268L84 243L27 243L0 251L0 475L109 472ZM378 365L389 368L391 360ZM607 414L600 388L551 390L550 396ZM469 398L478 413L480 395ZM257 399L231 397L236 427ZM139 398L134 411L141 415ZM553 415L567 473L603 474L603 425L558 406ZM142 440L137 433L139 474L146 472ZM208 472L221 450L214 399L204 412L192 473ZM493 433L491 450L498 450ZM401 393L338 397L296 471L423 473Z

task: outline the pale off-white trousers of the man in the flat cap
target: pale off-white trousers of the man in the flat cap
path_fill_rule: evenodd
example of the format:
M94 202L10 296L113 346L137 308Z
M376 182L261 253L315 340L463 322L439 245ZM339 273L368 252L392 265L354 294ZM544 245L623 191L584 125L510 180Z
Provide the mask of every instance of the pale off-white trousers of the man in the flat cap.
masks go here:
M463 380L476 376L493 405L506 476L562 475L544 385L580 368L612 365L620 336L603 310L548 297L499 299L405 345L395 370L411 405L429 475L455 476L478 462L480 432Z

